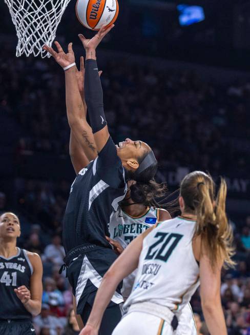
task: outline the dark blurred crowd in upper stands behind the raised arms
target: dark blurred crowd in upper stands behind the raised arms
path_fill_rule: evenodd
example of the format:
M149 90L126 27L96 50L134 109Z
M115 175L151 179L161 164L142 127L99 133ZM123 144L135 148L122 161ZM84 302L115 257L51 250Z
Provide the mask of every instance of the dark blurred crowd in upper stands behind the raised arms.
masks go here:
M4 126L15 123L16 155L68 155L63 70L52 58L13 58L8 51L13 54L0 51L0 113ZM164 71L126 59L110 60L102 70L115 141L150 143L160 165L246 173L250 83L219 87L193 71Z

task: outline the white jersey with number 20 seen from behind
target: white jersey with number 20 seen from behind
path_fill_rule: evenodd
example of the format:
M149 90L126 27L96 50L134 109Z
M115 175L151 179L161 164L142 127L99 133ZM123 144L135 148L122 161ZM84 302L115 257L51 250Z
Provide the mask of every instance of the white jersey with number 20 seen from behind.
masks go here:
M150 301L181 309L199 286L199 266L192 239L195 221L181 218L164 221L145 237L133 291L124 307Z

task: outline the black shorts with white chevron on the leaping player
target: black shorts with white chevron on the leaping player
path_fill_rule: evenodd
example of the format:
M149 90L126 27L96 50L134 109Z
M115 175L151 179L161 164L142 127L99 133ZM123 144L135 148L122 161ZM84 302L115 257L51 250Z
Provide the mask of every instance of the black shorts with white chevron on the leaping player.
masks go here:
M73 294L76 298L77 314L82 314L85 305L93 306L95 294L100 286L103 275L116 260L117 255L112 249L95 247L87 252L75 255L69 263L67 275ZM108 307L119 305L123 302L120 289L117 287Z

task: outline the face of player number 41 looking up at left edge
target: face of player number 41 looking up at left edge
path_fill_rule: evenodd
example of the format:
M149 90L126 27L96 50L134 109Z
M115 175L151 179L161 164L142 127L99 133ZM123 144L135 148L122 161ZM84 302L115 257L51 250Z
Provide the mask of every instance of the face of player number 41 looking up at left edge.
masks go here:
M16 239L20 236L20 222L13 213L4 213L0 216L0 237Z

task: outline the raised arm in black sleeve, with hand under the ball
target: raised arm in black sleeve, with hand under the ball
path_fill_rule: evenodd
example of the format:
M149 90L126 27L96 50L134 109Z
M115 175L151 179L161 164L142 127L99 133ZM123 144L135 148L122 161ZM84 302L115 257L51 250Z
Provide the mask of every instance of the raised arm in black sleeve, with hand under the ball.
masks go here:
M106 145L110 135L103 109L103 94L95 50L102 38L105 37L113 27L114 25L109 28L103 26L91 40L87 40L83 35L79 35L86 50L85 98L98 152Z

